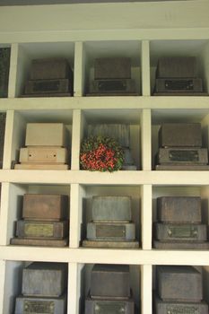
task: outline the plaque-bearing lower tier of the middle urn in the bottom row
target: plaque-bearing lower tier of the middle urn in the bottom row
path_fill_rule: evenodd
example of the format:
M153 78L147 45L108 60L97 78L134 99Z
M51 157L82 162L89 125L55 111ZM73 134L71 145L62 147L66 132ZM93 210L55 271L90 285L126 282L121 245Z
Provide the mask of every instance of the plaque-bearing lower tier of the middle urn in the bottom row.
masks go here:
M133 299L120 301L104 299L94 300L88 297L85 300L85 314L121 314L121 313L124 314L135 313L135 302Z

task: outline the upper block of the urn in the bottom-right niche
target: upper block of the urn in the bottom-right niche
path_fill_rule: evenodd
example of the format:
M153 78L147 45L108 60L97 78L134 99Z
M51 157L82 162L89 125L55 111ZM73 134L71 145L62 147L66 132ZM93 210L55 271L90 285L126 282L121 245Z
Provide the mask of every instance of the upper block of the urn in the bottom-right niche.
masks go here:
M158 266L156 283L162 300L203 300L202 274L192 266Z

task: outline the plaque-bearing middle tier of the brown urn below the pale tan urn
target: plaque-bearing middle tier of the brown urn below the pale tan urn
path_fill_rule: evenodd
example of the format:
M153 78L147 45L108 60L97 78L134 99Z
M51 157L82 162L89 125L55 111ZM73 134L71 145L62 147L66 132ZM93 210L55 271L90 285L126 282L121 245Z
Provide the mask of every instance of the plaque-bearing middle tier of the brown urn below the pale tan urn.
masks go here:
M20 220L16 222L16 236L29 239L63 239L69 233L69 222Z

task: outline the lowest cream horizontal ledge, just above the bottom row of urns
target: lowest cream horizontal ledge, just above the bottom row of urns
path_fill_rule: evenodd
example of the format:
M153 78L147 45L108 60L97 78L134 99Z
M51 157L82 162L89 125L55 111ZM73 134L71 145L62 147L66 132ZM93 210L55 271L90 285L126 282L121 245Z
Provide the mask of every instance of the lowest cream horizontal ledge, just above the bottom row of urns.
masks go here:
M69 249L2 246L0 259L66 263L209 266L209 251Z

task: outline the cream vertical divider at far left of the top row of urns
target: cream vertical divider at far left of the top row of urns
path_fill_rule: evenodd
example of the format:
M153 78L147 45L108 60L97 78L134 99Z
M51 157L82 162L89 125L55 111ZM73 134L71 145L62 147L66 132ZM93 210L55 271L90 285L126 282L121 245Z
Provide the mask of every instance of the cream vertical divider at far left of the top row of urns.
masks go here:
M18 44L11 45L10 56L10 72L9 72L9 84L8 84L8 98L15 97L16 91L16 77L17 77L17 59L18 59Z

